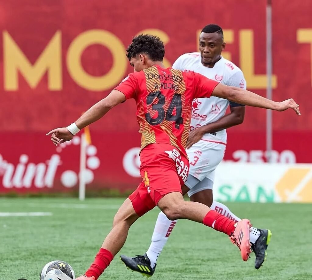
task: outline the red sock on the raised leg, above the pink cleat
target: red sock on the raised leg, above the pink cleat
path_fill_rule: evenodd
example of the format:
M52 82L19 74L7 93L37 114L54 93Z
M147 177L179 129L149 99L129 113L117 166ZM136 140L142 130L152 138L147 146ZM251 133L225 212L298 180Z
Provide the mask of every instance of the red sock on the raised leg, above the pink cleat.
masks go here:
M217 211L210 210L205 218L203 219L202 223L205 226L211 227L215 230L221 231L228 236L231 236L235 230L234 225L236 224L231 219L223 216L222 214L218 213Z

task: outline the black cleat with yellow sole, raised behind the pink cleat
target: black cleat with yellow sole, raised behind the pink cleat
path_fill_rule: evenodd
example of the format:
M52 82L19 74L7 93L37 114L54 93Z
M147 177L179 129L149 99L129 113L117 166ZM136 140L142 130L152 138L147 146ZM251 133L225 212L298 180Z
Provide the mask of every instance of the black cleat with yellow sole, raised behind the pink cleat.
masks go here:
M251 249L256 255L255 268L259 269L262 263L266 260L266 249L271 241L271 230L270 229L258 229L260 236L258 237L255 244L251 244Z

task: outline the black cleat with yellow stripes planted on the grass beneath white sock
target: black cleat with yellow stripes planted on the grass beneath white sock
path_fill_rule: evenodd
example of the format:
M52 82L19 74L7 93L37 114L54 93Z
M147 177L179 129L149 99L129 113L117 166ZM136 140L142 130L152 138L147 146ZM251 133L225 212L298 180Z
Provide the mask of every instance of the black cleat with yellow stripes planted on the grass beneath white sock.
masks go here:
M146 254L143 256L137 255L133 258L121 255L120 259L124 262L127 268L131 269L132 271L137 271L143 276L151 277L154 274L156 264L154 268L152 268L151 262Z

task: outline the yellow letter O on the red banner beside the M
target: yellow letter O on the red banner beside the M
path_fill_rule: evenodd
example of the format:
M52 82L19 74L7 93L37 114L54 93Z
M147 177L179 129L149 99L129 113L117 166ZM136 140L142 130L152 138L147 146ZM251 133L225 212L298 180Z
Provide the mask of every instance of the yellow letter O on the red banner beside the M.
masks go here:
M107 47L113 56L112 68L108 73L99 77L88 74L81 65L83 51L93 44ZM124 77L127 68L123 43L113 33L101 29L91 29L79 34L68 48L66 63L68 71L76 83L91 91L104 91L115 86Z

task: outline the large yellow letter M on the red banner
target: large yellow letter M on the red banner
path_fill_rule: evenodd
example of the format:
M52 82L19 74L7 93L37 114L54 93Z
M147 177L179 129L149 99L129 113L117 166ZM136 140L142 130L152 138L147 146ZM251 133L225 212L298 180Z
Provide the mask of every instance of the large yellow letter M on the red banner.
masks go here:
M57 31L43 52L32 65L11 35L3 32L4 90L18 90L18 71L31 88L35 88L45 72L48 88L62 89L61 31Z

